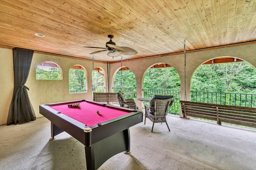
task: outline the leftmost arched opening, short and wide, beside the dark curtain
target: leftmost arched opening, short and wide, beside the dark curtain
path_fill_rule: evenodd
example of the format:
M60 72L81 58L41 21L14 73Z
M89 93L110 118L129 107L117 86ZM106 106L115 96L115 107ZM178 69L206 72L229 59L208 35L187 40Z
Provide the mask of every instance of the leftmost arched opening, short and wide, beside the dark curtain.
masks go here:
M45 61L36 68L36 80L62 80L62 70L58 64Z

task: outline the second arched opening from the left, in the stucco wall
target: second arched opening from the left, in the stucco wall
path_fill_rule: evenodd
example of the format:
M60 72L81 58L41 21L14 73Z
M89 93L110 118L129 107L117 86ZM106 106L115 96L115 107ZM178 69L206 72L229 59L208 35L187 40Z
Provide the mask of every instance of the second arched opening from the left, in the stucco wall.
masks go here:
M68 72L69 93L87 92L86 70L83 66L74 65Z

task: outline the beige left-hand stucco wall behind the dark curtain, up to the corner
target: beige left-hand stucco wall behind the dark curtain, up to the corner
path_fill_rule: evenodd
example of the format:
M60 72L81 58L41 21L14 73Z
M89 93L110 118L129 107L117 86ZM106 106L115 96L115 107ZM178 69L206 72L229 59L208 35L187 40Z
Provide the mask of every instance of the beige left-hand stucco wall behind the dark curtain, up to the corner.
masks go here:
M6 124L14 87L12 50L0 49L0 59L2 63L0 67L0 124ZM44 61L52 61L58 64L63 71L63 80L36 80L36 68ZM75 94L69 94L68 92L68 72L69 69L75 64L79 64L86 69L88 92ZM94 67L101 67L105 71L107 70L107 65L104 63L94 62ZM91 100L92 62L34 53L30 73L25 85L29 88L28 95L36 113L36 117L42 116L39 113L40 104L80 99Z

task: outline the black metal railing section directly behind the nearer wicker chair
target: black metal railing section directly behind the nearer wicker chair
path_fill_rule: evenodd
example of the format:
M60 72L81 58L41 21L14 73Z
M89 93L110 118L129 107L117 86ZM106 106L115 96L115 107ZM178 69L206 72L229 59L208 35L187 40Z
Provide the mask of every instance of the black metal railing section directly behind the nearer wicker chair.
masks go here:
M172 95L173 103L168 113L180 114L180 90L142 89L144 98L152 98L156 95Z

